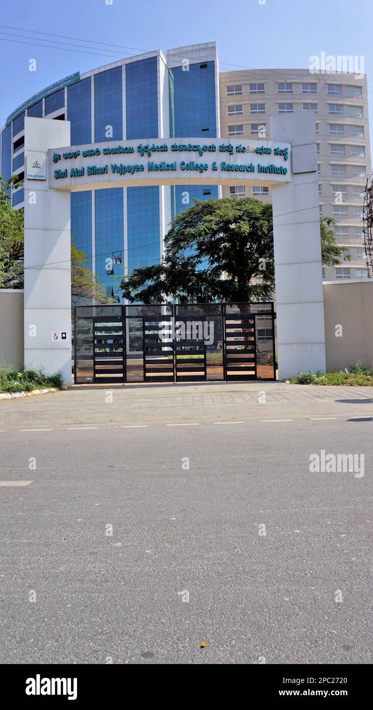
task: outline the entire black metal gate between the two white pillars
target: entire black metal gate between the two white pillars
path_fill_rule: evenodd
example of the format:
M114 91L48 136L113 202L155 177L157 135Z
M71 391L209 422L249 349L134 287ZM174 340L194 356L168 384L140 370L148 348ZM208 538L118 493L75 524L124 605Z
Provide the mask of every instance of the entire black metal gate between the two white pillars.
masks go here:
M274 305L74 308L74 382L275 380Z

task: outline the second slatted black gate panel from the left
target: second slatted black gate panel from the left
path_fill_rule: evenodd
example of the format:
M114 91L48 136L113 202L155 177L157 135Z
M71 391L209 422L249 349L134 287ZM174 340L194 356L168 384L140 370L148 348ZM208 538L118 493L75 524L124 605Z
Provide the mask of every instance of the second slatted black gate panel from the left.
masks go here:
M167 335L161 335L167 332ZM172 337L168 337L172 334ZM144 382L174 382L173 322L143 318Z

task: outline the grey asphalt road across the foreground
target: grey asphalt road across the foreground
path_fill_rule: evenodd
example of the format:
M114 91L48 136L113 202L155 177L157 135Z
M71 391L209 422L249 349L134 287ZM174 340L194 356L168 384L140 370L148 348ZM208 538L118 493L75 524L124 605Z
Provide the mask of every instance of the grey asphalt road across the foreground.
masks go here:
M372 662L372 420L219 421L0 433L1 663Z

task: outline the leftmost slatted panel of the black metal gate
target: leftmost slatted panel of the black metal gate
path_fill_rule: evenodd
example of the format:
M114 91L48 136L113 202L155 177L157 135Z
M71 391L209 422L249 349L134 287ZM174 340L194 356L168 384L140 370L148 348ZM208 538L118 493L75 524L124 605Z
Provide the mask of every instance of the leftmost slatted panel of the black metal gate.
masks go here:
M94 382L126 380L125 334L121 316L94 318Z

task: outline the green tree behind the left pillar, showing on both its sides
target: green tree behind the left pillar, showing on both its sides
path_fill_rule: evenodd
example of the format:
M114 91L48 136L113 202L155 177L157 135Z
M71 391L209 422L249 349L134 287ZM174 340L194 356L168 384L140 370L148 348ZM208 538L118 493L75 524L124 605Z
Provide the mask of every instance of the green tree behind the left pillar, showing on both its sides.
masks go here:
M23 288L23 219L24 210L12 209L8 190L22 187L17 175L5 182L0 176L0 288ZM71 244L72 304L110 303L104 285L87 266L88 256Z

